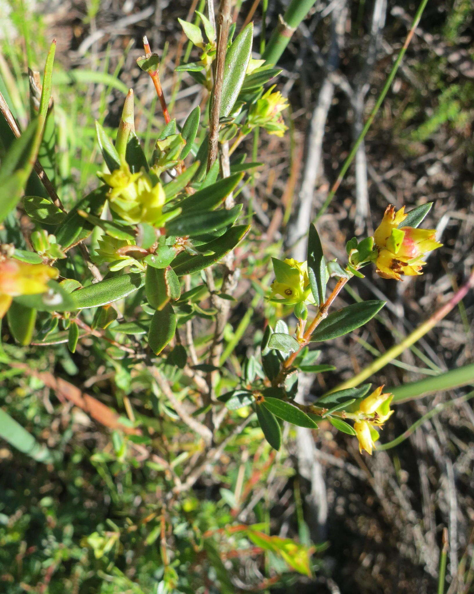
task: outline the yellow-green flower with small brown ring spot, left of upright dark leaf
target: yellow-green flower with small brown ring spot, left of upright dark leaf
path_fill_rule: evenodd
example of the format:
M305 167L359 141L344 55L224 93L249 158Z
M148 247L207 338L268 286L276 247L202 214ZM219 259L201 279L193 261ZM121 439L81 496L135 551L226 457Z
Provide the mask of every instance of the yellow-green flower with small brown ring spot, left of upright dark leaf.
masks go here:
M272 258L276 280L270 285L270 301L286 305L295 305L302 301L313 302L309 286L308 266L306 262L297 262L294 258L277 260ZM283 299L275 299L280 295Z

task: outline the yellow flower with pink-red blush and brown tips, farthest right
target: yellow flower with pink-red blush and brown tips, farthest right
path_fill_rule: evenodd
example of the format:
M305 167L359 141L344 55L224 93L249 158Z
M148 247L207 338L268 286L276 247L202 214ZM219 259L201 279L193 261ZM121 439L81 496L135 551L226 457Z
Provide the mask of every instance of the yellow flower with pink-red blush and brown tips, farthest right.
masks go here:
M384 279L400 280L400 276L416 276L422 274L422 266L426 264L426 252L441 247L436 241L435 229L415 229L402 227L407 215L405 207L395 211L390 204L384 217L374 233L375 245L378 249L377 274Z

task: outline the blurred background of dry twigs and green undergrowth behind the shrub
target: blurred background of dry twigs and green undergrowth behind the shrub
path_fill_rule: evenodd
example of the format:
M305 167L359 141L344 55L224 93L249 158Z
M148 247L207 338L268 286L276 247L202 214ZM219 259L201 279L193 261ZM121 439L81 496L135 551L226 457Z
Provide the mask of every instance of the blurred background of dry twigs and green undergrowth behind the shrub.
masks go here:
M256 57L286 5L234 4L239 29L255 8ZM95 187L95 173L103 168L94 120L115 134L129 87L147 154L163 129L153 85L135 62L143 53L143 34L160 53L172 116L182 123L200 104L200 87L189 74L175 72L183 53L191 51L177 19L192 20L194 8L181 0L0 5L0 90L22 128L30 110L27 67L43 71L51 40L58 42L52 129L58 151L51 175L67 209ZM388 283L371 272L339 298L339 307L361 298L384 299L387 307L364 330L325 345L318 364L337 371L308 381L309 400L402 342L471 277L469 0L428 2L355 165L322 208L417 8L409 1L317 2L279 60L277 88L289 98L289 131L280 138L262 130L239 147L264 163L242 189L252 235L236 252L241 278L225 328L226 361L240 372L244 357L255 353L265 321L276 320L263 299L273 279L270 257L304 260L298 239L309 219L318 217L328 257L342 258L346 241L372 233L388 203L434 203L426 226L437 228L444 247L416 281ZM192 52L189 59L196 56ZM2 242L11 241L8 225L1 233ZM85 273L78 257L75 274ZM23 454L1 441L1 591L472 591L472 373L462 382L448 381L448 390L436 390L443 381L438 376L472 364L473 308L468 292L415 345L383 368L372 368L370 381L396 394L403 384L434 379L418 390L429 392L424 399L396 407L383 442L407 431L397 447L361 456L353 437L323 421L309 442L307 434L286 428L285 447L276 453L251 422L175 500L173 476L199 444L150 378L92 336L80 340L74 353L65 344L23 349L2 327L2 348L21 365L0 368L1 409L38 445L34 459L30 447ZM200 324L197 334L205 335L206 312ZM173 369L169 365L171 379ZM74 400L73 386L117 416L104 426L90 406L84 410ZM127 432L133 426L142 435ZM232 531L225 532L229 526Z

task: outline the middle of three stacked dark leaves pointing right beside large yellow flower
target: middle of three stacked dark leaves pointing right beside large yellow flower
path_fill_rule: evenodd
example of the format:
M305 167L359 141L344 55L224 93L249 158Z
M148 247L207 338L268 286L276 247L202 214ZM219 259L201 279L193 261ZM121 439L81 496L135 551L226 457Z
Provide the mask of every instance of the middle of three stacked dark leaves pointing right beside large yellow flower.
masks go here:
M190 237L202 233L212 233L227 225L232 225L242 210L242 204L236 204L233 208L220 208L197 213L181 214L166 224L168 235Z

